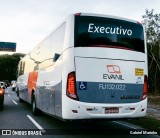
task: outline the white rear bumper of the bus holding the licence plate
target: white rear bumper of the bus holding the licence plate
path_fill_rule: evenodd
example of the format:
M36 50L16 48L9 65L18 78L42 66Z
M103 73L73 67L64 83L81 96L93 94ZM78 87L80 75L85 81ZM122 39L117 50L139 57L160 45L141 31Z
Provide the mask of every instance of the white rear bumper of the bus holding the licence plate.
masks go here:
M138 103L98 104L72 100L63 95L63 119L124 119L146 115L147 98Z

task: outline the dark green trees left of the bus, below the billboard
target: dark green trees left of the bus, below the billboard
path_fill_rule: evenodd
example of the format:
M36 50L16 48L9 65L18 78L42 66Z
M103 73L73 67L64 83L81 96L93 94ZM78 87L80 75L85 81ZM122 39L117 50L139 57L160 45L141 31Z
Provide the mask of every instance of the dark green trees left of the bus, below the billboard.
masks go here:
M0 55L0 81L17 79L17 66L22 57L22 53Z

